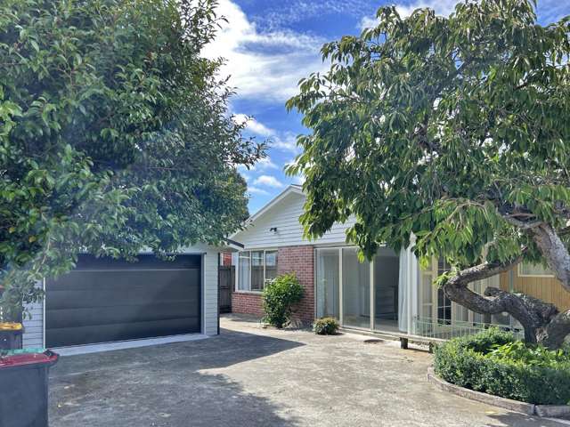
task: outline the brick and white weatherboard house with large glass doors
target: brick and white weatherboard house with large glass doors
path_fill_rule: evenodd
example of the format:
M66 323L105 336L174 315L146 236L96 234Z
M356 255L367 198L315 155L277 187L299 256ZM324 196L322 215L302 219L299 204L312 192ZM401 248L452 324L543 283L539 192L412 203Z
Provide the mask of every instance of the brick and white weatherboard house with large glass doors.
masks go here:
M354 219L307 240L298 220L304 204L301 187L291 185L232 236L243 245L235 257L233 312L262 315L265 282L294 271L305 288L297 317L306 323L332 316L346 328L438 337L465 334L485 324L520 331L508 315L474 313L433 286L447 269L444 262L434 260L422 269L410 250L396 254L387 246L379 248L372 262L359 262L356 247L346 244L346 229ZM500 286L553 302L561 310L570 307L570 294L540 266L519 265L471 286L478 293L487 286Z

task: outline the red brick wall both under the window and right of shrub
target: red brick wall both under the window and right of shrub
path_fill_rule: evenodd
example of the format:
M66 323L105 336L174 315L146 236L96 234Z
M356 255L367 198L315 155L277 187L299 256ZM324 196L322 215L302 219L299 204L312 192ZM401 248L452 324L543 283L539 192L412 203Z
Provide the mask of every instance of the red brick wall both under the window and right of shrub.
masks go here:
M314 320L314 248L313 246L280 247L277 255L277 272L295 272L305 288L303 301L295 308L296 318L312 323ZM232 312L263 316L261 295L234 292Z

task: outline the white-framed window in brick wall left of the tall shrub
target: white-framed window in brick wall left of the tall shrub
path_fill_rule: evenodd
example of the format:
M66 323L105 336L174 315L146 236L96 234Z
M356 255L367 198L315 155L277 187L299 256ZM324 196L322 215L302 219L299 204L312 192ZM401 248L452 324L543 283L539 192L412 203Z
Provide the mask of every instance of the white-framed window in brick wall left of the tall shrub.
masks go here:
M238 290L261 292L265 282L277 277L277 251L240 252Z

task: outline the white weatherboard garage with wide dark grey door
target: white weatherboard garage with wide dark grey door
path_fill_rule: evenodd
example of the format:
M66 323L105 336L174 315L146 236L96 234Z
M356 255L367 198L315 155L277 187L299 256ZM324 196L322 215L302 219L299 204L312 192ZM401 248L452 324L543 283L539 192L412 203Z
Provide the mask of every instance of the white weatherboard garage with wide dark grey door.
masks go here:
M81 352L218 334L218 259L227 249L191 246L175 261L79 255L75 270L39 284L45 301L29 307L23 345Z

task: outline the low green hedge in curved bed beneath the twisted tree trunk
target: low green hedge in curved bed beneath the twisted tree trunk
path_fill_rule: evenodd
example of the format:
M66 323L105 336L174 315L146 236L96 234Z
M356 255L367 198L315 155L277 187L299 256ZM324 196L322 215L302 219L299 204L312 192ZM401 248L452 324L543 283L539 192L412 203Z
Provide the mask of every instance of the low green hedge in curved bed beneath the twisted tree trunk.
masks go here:
M434 367L448 383L475 391L540 405L570 402L566 351L527 346L496 328L438 345Z

